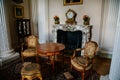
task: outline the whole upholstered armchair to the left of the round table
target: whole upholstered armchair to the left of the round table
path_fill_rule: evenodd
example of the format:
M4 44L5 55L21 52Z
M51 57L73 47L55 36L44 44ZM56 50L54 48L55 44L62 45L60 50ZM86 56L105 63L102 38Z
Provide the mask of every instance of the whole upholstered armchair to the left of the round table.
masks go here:
M25 57L36 57L36 62L38 61L36 47L38 44L38 37L30 35L26 37L26 42L21 45L21 58L24 62Z

